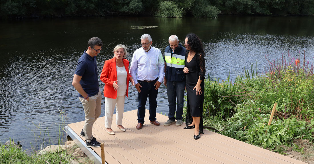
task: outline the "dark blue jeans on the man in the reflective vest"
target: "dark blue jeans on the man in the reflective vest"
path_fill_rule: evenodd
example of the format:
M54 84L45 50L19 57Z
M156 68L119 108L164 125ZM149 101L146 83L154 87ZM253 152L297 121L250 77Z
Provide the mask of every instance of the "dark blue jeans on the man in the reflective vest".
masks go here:
M184 98L185 81L183 82L169 82L167 81L167 95L169 103L168 117L171 121L182 120L183 114L183 98ZM177 111L176 111L177 100ZM176 117L175 117L176 113Z

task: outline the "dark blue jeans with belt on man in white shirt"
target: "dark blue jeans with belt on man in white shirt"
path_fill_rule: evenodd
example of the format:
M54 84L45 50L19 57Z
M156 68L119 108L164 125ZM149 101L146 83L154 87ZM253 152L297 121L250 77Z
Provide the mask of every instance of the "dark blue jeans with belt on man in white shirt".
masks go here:
M158 89L156 90L156 86L154 82L141 82L138 83L142 86L141 93L138 92L138 122L144 124L144 117L145 117L145 105L147 101L147 97L149 100L149 120L154 121L156 120L156 108L157 108L157 94Z

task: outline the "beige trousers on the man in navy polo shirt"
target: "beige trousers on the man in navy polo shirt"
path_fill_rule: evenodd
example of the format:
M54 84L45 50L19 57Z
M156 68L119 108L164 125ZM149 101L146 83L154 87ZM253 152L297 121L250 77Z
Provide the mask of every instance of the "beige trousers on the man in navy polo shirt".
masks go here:
M92 130L93 124L101 113L101 92L99 92L92 97L89 97L89 101L84 98L78 97L83 104L85 113L85 124L83 132L85 133L85 139L87 142L93 139Z

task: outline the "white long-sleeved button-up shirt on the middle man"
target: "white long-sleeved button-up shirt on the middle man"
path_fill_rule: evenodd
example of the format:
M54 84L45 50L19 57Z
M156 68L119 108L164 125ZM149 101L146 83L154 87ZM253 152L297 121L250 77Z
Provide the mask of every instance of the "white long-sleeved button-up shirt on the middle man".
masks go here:
M159 69L159 73L158 73ZM134 51L130 66L130 74L133 77L134 85L137 80L155 80L158 75L158 81L162 83L165 76L165 62L158 48L150 46L148 52L143 48ZM135 76L137 74L137 76Z

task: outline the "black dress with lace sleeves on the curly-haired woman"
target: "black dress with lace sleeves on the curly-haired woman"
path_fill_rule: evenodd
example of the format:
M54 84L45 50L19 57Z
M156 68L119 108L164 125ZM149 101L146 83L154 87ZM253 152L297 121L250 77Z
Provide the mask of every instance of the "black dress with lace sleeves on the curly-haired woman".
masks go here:
M185 66L189 69L189 73L186 74L186 86L187 86L187 117L185 124L188 126L192 124L193 117L201 117L199 124L199 133L203 133L203 104L204 104L204 79L205 79L205 58L204 54L196 52L190 62L187 62L187 54L185 55ZM201 89L202 94L196 95L196 89L193 88L198 82L198 78L202 80Z

